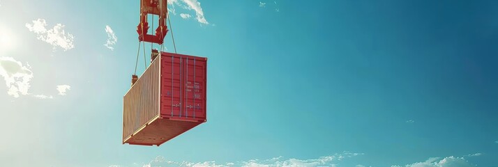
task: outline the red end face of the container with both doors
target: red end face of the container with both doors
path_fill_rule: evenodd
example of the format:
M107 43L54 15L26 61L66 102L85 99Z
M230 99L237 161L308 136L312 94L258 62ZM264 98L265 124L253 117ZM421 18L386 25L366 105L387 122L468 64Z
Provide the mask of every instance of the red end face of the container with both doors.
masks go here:
M161 116L206 121L207 58L163 52Z

